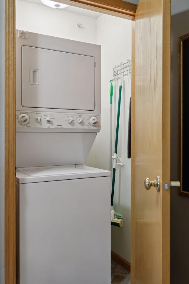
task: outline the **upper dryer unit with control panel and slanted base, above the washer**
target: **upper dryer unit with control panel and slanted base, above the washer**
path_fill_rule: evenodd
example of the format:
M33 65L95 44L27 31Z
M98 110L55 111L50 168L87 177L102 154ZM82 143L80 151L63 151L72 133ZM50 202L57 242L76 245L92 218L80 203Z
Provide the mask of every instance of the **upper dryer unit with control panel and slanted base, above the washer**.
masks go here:
M84 164L101 129L101 46L17 35L17 167Z

